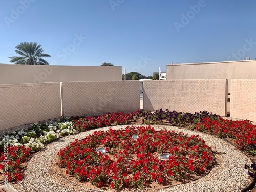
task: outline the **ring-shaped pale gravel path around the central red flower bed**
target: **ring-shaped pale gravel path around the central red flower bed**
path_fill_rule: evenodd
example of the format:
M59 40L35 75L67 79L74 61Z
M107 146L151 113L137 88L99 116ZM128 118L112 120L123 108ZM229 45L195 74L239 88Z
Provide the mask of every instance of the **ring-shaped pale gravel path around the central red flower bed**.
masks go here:
M112 126L112 129L120 129L122 126ZM141 126L141 125L136 125ZM196 181L191 181L186 184L173 186L171 188L162 189L160 191L232 191L238 192L247 187L252 180L244 169L245 164L251 164L250 159L236 147L223 141L215 136L194 132L191 130L181 129L173 126L154 125L156 130L166 127L167 130L181 131L188 135L199 135L206 144L210 147L216 146L217 152L226 152L226 154L216 154L218 165L211 172L199 178ZM104 127L101 130L108 130L109 127ZM100 129L97 129L100 130ZM68 182L60 174L51 173L51 169L55 163L56 154L60 148L67 146L76 138L83 139L89 134L93 134L95 130L62 137L57 141L48 144L43 150L34 154L24 171L23 180L15 186L20 192L36 192L36 191L92 191L89 188L85 189ZM108 190L113 191L113 190ZM148 191L148 190L147 190ZM154 190L152 190L154 191Z

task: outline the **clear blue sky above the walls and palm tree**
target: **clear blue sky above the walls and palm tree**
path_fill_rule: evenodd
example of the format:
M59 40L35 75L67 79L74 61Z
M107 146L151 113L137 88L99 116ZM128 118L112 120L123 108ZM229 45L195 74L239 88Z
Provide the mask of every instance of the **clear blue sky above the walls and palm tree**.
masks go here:
M0 63L20 42L53 65L104 62L152 75L166 64L256 58L256 1L0 0Z

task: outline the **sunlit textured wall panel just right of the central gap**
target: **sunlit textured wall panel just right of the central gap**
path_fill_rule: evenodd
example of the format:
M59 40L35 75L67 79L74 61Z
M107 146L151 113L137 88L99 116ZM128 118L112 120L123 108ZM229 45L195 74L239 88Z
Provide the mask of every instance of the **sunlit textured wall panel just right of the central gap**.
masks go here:
M144 110L209 111L227 115L227 80L144 81Z

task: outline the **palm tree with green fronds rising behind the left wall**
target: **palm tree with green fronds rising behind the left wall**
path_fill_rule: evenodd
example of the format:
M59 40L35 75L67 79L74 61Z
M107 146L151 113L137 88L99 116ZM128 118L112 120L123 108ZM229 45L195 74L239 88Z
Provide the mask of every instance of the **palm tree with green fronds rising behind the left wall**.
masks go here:
M49 65L49 62L41 57L51 57L51 55L42 53L44 50L36 42L21 42L15 48L15 52L21 56L9 57L10 62L23 65Z

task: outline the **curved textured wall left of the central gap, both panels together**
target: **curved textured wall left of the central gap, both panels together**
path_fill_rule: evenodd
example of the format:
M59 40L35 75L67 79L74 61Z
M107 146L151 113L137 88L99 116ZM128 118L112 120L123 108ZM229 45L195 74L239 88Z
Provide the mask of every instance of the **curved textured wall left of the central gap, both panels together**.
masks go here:
M0 85L0 132L71 115L140 110L139 81Z

